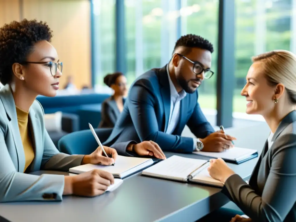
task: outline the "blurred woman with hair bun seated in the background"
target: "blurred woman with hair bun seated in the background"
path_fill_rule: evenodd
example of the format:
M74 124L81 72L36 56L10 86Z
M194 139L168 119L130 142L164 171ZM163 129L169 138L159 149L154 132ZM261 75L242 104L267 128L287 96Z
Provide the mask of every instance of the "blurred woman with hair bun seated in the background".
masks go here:
M113 89L114 94L102 103L102 120L98 128L113 128L123 110L126 94L126 77L116 72L104 77L104 83Z

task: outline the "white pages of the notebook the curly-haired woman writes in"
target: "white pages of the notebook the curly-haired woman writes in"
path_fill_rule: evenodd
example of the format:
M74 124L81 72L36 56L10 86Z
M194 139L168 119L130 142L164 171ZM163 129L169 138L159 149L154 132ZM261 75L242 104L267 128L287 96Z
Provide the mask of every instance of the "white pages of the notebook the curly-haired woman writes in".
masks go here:
M83 172L87 172L94 169L100 169L100 170L108 171L109 173L112 173L114 175L119 175L120 173L123 173L149 160L152 161L152 159L149 159L149 158L118 156L114 166L85 164L85 165L70 168L69 171L72 173L83 173Z

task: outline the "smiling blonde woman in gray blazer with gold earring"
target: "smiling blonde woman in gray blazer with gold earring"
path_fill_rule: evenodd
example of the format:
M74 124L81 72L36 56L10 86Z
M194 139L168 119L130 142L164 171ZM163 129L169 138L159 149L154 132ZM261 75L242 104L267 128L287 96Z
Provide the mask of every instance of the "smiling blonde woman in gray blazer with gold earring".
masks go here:
M210 160L210 175L224 183L222 192L249 218L224 221L296 221L296 56L275 50L253 57L242 96L247 114L262 115L271 133L249 184L222 159ZM219 212L225 213L225 209ZM215 212L204 221L221 214Z

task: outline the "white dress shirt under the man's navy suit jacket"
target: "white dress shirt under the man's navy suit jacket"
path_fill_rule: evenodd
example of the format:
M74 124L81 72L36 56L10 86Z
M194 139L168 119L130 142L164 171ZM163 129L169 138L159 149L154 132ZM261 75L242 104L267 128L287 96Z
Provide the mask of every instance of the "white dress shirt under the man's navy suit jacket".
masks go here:
M168 73L168 82L170 84L170 117L168 120L168 128L165 133L172 134L180 120L180 102L187 95L187 93L184 90L179 93L177 92L176 87L170 78L168 65L166 66L166 70ZM197 139L193 138L193 151L196 151L196 145Z

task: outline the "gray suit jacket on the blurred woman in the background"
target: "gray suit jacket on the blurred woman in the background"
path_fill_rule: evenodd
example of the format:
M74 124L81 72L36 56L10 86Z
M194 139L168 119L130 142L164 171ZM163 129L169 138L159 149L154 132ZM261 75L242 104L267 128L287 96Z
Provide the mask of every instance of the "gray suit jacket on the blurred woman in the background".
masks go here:
M123 104L125 99L123 99ZM110 96L108 99L105 99L102 103L101 109L101 122L99 123L98 128L113 128L115 123L120 115L120 110L114 100L113 96Z

